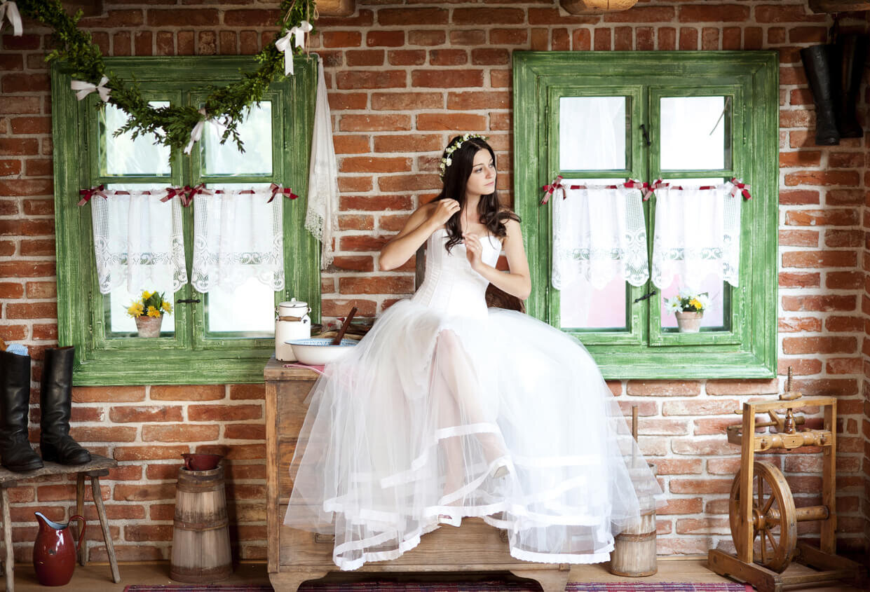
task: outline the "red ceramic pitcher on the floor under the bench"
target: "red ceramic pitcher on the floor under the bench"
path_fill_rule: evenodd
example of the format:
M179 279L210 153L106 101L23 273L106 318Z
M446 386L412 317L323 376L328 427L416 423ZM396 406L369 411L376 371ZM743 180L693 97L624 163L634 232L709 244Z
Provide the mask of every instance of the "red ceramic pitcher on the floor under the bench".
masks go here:
M82 532L78 535L78 545L70 533L70 522L58 524L51 522L36 512L39 522L37 541L33 543L33 569L37 571L37 580L43 586L63 586L72 579L76 569L76 551L82 546L86 524L82 516L70 516L73 520L82 521Z

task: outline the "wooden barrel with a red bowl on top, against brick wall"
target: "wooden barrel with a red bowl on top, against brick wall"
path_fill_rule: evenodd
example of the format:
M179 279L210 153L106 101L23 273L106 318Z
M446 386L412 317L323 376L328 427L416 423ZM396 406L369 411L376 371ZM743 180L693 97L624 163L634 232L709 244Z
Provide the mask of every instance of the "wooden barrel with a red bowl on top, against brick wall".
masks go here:
M178 582L217 582L230 577L230 529L224 467L178 469L170 577Z

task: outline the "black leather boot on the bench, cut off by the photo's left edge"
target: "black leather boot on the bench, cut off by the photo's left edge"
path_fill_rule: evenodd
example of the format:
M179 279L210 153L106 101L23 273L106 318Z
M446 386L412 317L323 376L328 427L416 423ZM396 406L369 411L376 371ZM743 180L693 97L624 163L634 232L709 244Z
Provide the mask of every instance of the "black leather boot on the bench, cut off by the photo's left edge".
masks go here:
M43 461L28 441L30 356L0 351L0 464L17 473L40 469Z

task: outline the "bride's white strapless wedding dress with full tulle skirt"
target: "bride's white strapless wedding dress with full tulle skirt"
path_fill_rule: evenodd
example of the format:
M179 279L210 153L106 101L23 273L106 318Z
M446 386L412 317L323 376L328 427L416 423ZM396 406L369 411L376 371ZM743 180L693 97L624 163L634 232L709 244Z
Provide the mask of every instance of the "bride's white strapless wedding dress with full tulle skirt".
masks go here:
M446 237L429 237L412 299L311 390L284 524L335 535L340 569L398 557L464 516L505 529L521 560L607 561L659 484L586 349L487 309L487 281ZM495 265L499 241L481 242Z

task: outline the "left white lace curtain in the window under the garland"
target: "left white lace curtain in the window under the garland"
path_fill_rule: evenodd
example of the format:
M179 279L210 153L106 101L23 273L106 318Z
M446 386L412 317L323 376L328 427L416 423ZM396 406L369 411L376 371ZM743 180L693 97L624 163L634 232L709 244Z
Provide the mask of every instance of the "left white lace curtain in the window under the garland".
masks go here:
M187 283L181 204L148 191L109 190L90 200L100 292L127 284L131 293L171 277L172 290Z

